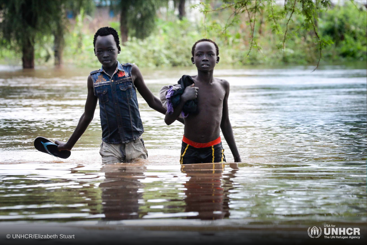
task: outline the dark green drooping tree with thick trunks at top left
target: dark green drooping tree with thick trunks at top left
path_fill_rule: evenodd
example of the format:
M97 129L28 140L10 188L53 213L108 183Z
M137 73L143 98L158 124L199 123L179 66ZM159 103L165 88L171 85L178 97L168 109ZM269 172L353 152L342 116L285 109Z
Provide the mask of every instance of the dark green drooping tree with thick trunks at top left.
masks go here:
M34 68L34 44L54 35L55 65L62 64L65 10L79 10L88 1L0 0L1 45L22 54L23 68Z

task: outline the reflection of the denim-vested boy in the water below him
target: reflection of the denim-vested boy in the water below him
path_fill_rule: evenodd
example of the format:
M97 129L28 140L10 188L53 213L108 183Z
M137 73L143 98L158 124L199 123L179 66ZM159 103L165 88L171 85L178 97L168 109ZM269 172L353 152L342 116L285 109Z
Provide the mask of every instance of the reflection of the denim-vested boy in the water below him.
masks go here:
M126 163L121 163L126 165ZM139 200L144 184L141 181L145 166L104 165L101 172L105 180L99 185L102 190L103 220L126 220L139 218Z

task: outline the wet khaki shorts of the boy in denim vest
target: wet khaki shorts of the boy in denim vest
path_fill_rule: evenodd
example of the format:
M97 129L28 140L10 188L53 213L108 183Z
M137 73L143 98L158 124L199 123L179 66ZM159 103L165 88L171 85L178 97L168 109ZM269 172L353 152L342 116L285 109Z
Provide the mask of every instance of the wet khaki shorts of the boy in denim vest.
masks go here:
M148 158L148 151L145 149L142 136L125 144L109 144L102 141L99 154L102 156L103 164L127 162L135 158Z

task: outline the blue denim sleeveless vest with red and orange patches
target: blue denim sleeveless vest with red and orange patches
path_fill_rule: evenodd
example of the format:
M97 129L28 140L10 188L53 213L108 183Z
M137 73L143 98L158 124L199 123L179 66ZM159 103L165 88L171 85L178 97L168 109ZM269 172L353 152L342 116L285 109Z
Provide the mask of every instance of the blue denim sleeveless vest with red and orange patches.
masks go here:
M120 64L117 61L112 77L103 70L103 66L90 73L94 94L99 101L102 141L106 143L128 143L144 132L137 93L131 77L133 65Z

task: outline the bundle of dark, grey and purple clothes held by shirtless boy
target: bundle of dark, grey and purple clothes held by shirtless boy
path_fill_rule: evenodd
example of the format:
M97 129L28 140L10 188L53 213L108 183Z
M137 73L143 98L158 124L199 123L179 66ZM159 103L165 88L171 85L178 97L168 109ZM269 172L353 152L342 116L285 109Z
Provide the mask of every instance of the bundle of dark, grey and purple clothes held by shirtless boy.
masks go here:
M183 75L180 80L178 80L176 85L165 85L159 91L159 97L162 106L167 109L168 115L173 113L173 109L177 107L181 101L181 95L185 91L186 87L193 84L191 76ZM186 118L189 114L197 114L197 99L186 101L183 105L180 118Z

